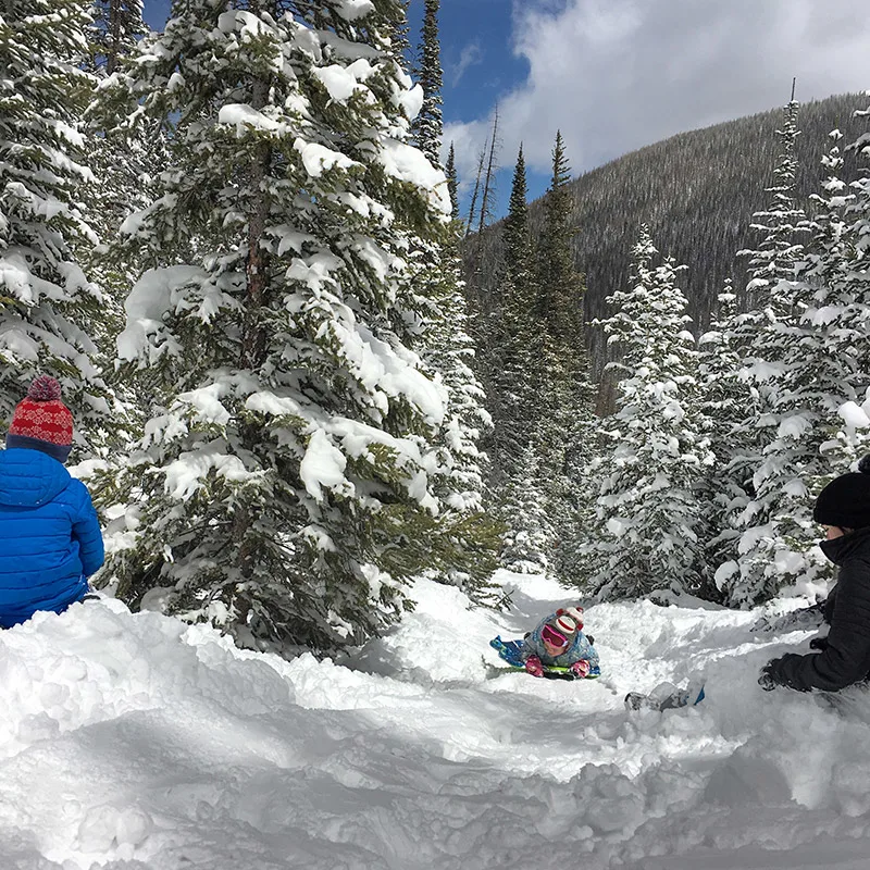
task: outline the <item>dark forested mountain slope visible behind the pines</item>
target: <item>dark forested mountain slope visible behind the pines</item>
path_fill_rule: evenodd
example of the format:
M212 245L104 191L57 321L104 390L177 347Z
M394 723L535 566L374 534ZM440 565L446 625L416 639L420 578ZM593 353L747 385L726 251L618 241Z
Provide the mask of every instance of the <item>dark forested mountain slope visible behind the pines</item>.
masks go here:
M840 128L845 141L853 141L857 126L852 114L866 104L866 97L847 95L800 108L801 134L796 150L803 196L819 187L828 134ZM572 182L577 227L574 252L577 269L586 275L587 321L605 316L605 299L627 281L629 256L642 223L649 225L662 253L688 266L681 283L696 324L707 324L726 277L734 279L741 295L746 264L736 252L756 243L749 224L753 213L768 204L765 188L772 184L778 154L775 130L782 120L783 110L774 109L682 133ZM846 179L854 173L854 157L847 154ZM543 216L542 200L531 204L530 215L534 234ZM501 223L467 241L469 293L473 307L484 315L498 308L501 257ZM487 321L484 316L482 324ZM483 328L478 338L485 344ZM593 376L597 378L605 362L598 330L589 330L588 345Z

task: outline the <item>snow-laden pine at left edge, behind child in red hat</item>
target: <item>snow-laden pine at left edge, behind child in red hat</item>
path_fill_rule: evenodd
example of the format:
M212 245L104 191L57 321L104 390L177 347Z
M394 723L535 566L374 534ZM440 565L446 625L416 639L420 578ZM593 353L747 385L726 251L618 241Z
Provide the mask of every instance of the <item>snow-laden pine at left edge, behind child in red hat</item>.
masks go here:
M0 419L51 373L95 449L109 406L91 331L101 296L82 268L96 241L80 208L94 178L82 112L88 5L10 0L0 11Z

